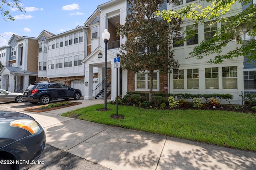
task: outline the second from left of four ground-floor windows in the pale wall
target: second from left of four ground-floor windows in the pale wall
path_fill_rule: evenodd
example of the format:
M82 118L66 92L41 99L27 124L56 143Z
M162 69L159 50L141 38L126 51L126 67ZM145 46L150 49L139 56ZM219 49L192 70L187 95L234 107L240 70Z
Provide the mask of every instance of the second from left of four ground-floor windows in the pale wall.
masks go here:
M187 70L187 87L188 87L188 89L198 89L199 88L198 68Z

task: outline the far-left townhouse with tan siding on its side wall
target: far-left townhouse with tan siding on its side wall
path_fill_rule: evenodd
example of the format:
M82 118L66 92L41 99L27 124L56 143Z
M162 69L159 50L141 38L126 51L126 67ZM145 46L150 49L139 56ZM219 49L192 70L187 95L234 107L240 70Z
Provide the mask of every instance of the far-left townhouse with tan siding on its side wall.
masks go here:
M37 64L34 63L38 63L37 39L12 35L8 45L10 50L6 51L5 61L8 65L0 71L1 88L10 92L22 91L36 81Z

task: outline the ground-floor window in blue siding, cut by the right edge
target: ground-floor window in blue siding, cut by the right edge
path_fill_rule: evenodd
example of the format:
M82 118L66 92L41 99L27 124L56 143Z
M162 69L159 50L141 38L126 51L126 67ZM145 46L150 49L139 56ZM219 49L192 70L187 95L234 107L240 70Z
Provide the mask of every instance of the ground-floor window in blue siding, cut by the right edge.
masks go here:
M244 89L256 89L255 71L244 71Z

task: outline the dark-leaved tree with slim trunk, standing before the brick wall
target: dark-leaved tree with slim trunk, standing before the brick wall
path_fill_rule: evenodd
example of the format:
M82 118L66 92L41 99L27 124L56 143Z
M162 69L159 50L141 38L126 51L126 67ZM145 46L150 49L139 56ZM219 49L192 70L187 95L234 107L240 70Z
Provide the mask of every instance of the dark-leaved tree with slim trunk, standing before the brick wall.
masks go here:
M177 69L178 61L173 58L170 43L173 32L178 32L182 20L171 22L157 18L154 13L166 0L127 0L131 8L124 25L118 24L118 35L126 37L121 45L122 67L135 73L144 72L150 77L149 101L152 102L153 73L171 72ZM167 0L170 2L170 0Z

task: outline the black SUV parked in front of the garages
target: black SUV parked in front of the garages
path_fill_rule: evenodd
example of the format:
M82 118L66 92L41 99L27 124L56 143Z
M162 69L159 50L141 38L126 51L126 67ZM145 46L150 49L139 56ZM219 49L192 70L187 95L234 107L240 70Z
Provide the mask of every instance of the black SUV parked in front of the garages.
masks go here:
M51 100L74 98L78 100L82 96L82 92L79 89L70 88L65 84L60 83L35 83L30 84L23 92L22 99L25 102L32 104L49 104Z

